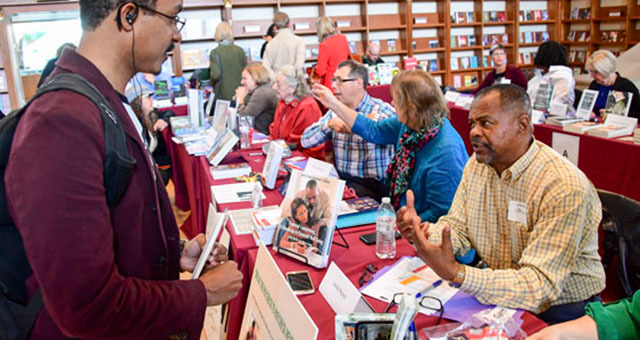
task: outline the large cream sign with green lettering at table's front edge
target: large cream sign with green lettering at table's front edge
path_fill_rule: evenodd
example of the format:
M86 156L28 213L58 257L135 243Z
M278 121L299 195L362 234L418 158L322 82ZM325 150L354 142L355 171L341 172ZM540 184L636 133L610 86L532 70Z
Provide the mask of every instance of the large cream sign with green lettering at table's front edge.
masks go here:
M318 327L293 294L269 250L260 243L239 339L309 339Z

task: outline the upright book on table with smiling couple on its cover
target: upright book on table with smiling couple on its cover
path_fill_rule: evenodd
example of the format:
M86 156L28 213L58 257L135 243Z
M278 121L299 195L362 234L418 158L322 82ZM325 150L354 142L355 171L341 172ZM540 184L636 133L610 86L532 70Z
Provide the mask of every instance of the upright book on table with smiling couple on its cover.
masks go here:
M280 223L276 227L273 249L310 266L325 268L344 183L337 178L293 170L280 205ZM308 190L316 190L315 201L307 201Z

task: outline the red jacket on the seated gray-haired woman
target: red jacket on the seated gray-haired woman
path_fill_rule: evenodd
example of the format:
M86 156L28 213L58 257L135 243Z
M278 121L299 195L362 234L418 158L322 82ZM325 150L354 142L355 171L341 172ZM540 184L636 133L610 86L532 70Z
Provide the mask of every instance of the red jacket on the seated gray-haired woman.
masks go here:
M269 135L271 139L284 139L288 144L295 143L306 156L324 161L324 143L310 149L304 149L300 145L304 129L321 117L320 107L311 96L302 100L294 99L289 104L280 100L273 122L269 125Z

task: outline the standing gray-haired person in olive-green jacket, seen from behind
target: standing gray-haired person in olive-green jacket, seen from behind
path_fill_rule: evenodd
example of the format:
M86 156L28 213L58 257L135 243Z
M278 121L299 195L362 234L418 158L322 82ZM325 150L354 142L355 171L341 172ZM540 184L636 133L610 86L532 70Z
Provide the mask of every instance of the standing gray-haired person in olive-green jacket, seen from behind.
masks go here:
M242 69L247 66L244 51L233 44L233 29L223 21L216 27L218 47L211 51L209 74L215 99L231 100L240 86Z

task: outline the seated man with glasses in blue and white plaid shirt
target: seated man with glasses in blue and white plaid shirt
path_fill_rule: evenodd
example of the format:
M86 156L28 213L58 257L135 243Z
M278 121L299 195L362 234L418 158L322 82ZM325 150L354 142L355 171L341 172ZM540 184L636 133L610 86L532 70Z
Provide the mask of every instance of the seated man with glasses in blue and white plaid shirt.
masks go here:
M395 115L391 105L372 98L365 91L368 80L366 66L353 60L343 61L332 79L333 92L339 101L370 119L382 120ZM394 146L368 143L360 136L351 134L349 127L331 110L304 131L300 143L304 148L311 148L330 137L340 178L346 180L347 185L360 197L370 196L380 202L382 197L388 196L384 177L393 157Z

